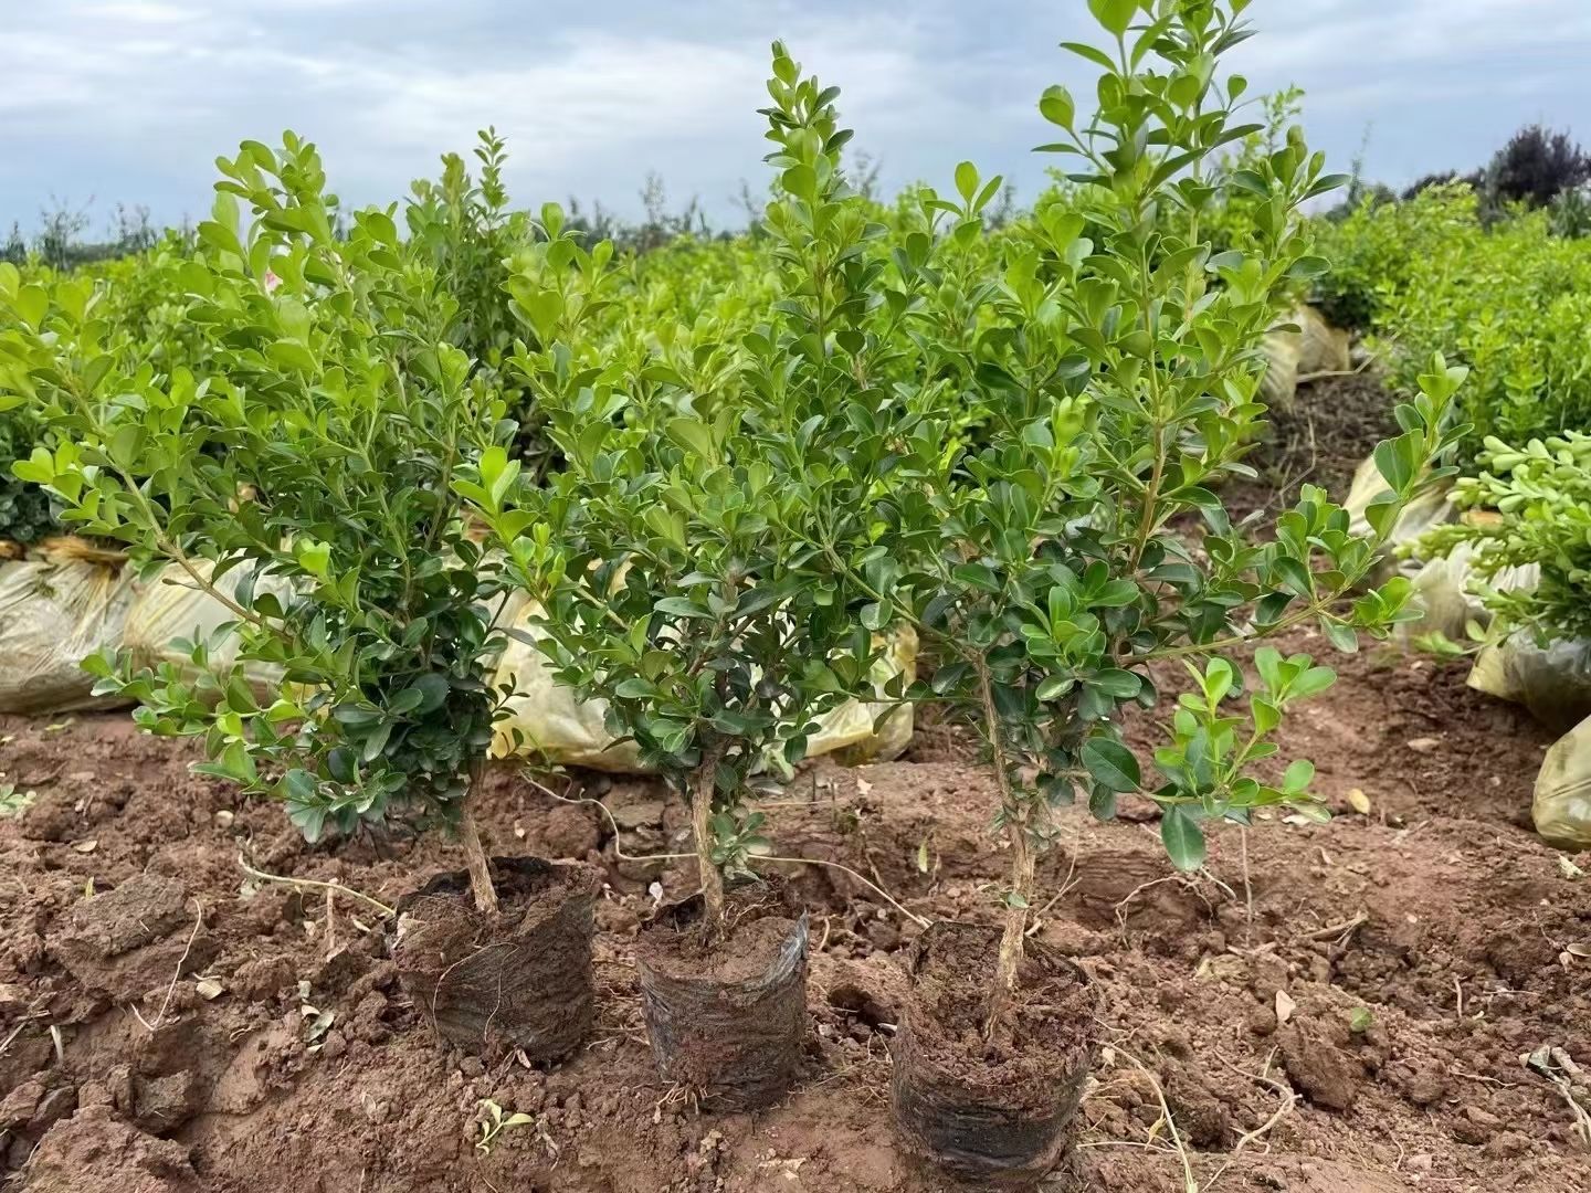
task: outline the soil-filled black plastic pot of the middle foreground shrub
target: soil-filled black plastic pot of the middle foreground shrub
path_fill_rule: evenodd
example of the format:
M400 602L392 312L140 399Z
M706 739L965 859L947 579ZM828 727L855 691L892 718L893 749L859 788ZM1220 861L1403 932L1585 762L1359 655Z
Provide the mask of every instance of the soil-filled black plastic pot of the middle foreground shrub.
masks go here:
M635 942L641 1010L663 1080L714 1110L776 1102L807 1039L807 911L780 880L663 907Z

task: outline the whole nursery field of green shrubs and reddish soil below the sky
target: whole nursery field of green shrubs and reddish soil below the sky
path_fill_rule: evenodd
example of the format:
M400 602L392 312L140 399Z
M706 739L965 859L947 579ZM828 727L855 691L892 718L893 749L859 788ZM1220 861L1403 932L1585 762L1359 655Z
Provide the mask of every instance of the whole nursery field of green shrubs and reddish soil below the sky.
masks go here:
M1591 157L1330 173L1246 8L1023 208L775 43L738 232L8 248L6 1188L1591 1188Z

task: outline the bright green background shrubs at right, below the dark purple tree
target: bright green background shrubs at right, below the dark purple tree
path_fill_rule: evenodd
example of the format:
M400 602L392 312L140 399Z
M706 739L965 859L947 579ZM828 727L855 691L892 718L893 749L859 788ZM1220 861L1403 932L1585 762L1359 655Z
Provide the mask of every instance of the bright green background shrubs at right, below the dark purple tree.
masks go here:
M1545 212L1476 218L1468 188L1365 207L1322 232L1327 313L1367 326L1411 393L1435 352L1468 366L1465 466L1488 436L1526 442L1591 425L1591 239L1551 235Z

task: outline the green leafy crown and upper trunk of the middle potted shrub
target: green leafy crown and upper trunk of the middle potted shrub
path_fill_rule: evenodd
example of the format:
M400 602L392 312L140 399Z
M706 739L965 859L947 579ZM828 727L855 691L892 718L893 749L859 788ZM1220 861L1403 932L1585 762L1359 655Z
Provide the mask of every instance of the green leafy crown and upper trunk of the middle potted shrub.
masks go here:
M547 208L547 243L509 283L533 336L514 364L565 471L514 492L488 453L458 485L546 609L558 678L692 792L710 902L713 873L765 846L741 810L753 771L800 759L818 714L870 692L888 625L834 563L869 546L886 493L886 398L867 380L894 350L867 331L880 227L838 169L835 89L776 48L770 92L772 278L692 302L689 323L636 318L611 245L584 248Z

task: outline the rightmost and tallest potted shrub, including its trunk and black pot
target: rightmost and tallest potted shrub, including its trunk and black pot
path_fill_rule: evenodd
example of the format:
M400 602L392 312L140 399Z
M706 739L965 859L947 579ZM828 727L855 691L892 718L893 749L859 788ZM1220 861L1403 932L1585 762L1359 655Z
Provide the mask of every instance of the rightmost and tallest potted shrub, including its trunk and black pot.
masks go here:
M1061 135L1044 150L1074 162L1071 188L1006 237L996 285L958 269L986 202L971 165L959 204L924 207L948 226L897 258L928 326L975 312L966 336L918 337L921 375L959 383L937 390L953 399L937 415L926 407L940 434L918 425L901 439L921 455L899 469L888 550L848 566L939 655L913 695L982 735L999 795L1001 924L942 923L913 943L894 1040L904 1142L967 1177L1031 1182L1058 1163L1098 1042L1083 972L1026 940L1055 808L1080 794L1109 818L1141 791L1185 870L1203 865L1209 824L1276 805L1324 816L1308 762L1251 771L1276 752L1282 713L1333 673L1262 647L1252 681L1223 652L1300 625L1352 649L1408 619L1406 581L1362 582L1402 504L1451 472L1432 464L1462 434L1446 426L1462 371L1438 361L1378 452L1391 492L1375 533L1349 533L1346 511L1309 485L1265 534L1228 519L1216 485L1243 469L1263 415L1262 337L1279 296L1322 267L1297 212L1338 183L1298 130L1257 169L1219 170L1217 150L1254 130L1236 119L1243 80L1216 73L1247 33L1244 8L1090 0L1107 43L1069 49L1101 68L1099 108L1079 119L1061 87L1039 105ZM1233 188L1257 200L1252 231L1214 253L1208 213ZM956 436L969 425L974 444ZM1196 546L1174 528L1188 515L1204 523ZM1155 705L1149 665L1165 659L1188 663L1193 689L1149 779L1120 714Z

